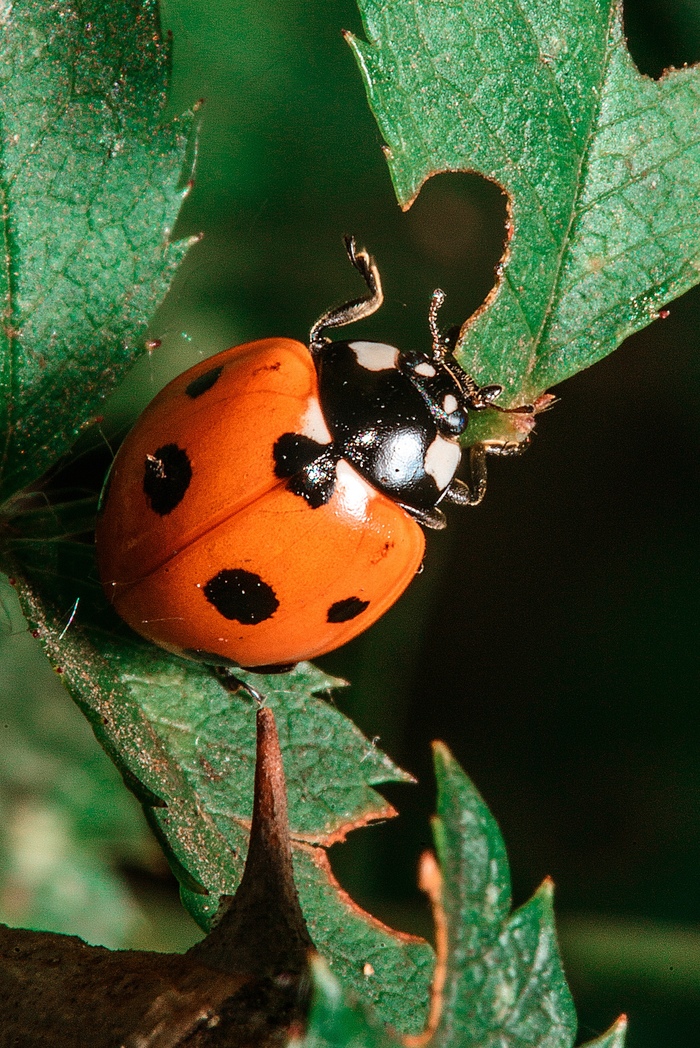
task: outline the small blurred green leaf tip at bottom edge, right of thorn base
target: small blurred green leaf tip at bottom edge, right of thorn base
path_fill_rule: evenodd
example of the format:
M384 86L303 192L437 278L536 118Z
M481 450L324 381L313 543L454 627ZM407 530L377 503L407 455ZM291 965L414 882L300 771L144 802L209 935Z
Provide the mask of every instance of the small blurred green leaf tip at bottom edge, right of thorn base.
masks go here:
M346 992L324 962L311 965L313 997L306 1031L289 1048L389 1048L399 1045L356 997Z

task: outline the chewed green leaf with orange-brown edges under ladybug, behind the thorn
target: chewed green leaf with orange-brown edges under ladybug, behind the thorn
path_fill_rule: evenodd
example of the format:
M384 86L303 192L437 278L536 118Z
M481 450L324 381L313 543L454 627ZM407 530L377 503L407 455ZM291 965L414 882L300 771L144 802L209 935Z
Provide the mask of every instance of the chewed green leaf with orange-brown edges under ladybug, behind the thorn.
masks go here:
M27 618L144 804L185 905L207 927L220 896L238 887L245 861L256 703L244 691L232 693L209 668L169 656L131 633L102 595L90 546L17 540L13 551L18 569L31 578L26 585L17 571ZM238 676L276 713L299 894L316 947L346 985L369 991L386 1022L420 1029L433 951L356 907L315 847L393 814L373 787L411 777L328 701L342 681L308 663L287 674Z

